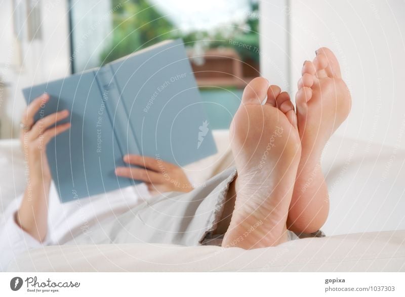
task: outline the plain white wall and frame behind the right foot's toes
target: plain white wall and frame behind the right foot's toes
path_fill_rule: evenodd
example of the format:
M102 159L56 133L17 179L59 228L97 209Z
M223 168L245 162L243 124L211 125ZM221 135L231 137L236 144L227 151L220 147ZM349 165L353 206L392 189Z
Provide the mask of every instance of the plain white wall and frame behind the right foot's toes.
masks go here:
M262 67L264 76L291 86L295 94L304 60L312 60L316 48L330 47L353 98L351 114L337 134L405 148L405 2L262 0L261 5L262 51L272 60L284 59L277 63L291 79L274 77L270 66ZM283 17L288 25L279 20Z

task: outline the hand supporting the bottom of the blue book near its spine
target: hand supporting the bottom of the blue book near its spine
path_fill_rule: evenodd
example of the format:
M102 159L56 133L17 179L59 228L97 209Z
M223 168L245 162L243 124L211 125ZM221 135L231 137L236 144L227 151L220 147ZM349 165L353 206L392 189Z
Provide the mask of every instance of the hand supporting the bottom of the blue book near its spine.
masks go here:
M151 193L189 192L193 189L184 171L174 164L138 155L126 155L124 162L142 168L118 167L115 174L145 182Z

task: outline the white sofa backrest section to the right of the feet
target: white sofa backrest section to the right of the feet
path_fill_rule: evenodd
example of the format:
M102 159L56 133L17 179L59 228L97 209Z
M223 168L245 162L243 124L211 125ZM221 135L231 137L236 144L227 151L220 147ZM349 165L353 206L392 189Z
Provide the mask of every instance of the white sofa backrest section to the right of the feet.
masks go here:
M327 236L405 230L405 151L333 137L322 157L331 208Z

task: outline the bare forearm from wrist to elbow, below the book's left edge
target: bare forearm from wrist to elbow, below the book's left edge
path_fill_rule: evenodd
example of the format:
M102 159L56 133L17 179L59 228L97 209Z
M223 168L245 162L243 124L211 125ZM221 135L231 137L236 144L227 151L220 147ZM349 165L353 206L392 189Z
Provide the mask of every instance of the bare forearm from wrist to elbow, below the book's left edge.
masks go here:
M16 223L39 242L48 230L48 197L51 180L31 179L24 192Z

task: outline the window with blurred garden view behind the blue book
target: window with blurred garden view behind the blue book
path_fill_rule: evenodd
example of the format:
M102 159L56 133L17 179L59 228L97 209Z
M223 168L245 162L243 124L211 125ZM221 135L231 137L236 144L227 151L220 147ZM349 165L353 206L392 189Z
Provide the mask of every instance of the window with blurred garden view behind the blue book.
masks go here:
M242 88L259 75L257 10L254 0L70 0L72 69L182 38L211 128L228 128Z

